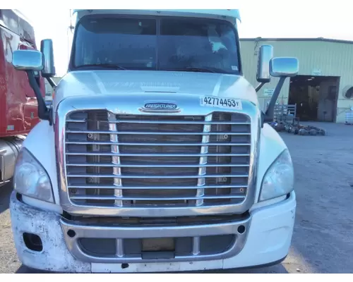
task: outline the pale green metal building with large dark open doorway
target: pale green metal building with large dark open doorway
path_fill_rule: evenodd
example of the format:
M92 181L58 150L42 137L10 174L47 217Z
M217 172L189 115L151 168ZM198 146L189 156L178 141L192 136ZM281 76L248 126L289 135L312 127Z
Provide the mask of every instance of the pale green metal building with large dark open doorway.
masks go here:
M345 113L353 106L353 42L335 39L241 39L244 76L256 82L258 48L273 45L274 56L299 59L299 75L287 78L278 104L297 104L301 121L345 122ZM265 109L277 84L273 78L259 92Z

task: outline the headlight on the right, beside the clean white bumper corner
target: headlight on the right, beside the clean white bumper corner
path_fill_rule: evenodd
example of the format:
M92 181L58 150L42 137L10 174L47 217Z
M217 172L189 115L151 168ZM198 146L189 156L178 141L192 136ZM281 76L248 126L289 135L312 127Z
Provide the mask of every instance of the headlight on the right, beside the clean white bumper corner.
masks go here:
M259 201L287 195L293 188L294 170L292 158L288 149L285 149L266 171L261 185Z

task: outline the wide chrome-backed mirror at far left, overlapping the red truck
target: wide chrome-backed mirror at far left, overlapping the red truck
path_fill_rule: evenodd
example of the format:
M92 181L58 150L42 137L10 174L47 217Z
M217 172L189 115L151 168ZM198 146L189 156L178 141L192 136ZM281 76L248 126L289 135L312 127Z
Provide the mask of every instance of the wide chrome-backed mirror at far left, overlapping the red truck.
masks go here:
M35 50L15 50L12 54L12 65L18 71L42 71L43 55Z

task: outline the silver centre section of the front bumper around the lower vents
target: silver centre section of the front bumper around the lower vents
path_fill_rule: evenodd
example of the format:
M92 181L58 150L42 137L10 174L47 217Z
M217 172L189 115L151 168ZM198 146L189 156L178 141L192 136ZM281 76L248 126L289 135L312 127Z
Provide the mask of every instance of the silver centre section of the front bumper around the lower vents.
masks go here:
M64 232L66 245L71 254L76 259L83 262L99 263L132 263L132 262L185 262L185 261L203 261L211 259L226 259L234 257L244 247L251 224L251 217L242 221L233 221L226 223L190 225L190 226L87 226L77 225L61 219L61 228ZM239 226L245 227L244 233L239 233ZM68 231L75 231L76 235L71 238L67 235ZM210 235L230 235L234 234L236 240L234 244L225 252L214 255L202 255L200 253L200 237ZM142 257L125 257L123 250L124 239L143 239L143 238L179 238L193 237L193 248L190 255L177 256L174 259L142 259ZM114 257L92 256L82 250L78 239L80 238L114 238L116 240L117 250Z

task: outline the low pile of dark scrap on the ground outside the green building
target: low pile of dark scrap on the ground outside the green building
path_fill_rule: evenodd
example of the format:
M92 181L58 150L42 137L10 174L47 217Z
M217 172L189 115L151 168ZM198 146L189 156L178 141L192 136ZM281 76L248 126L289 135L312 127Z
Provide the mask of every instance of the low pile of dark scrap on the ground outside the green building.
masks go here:
M326 130L323 128L317 128L316 126L312 125L301 125L301 124L292 124L292 123L285 123L283 121L269 123L277 132L287 132L292 133L294 135L327 135Z

